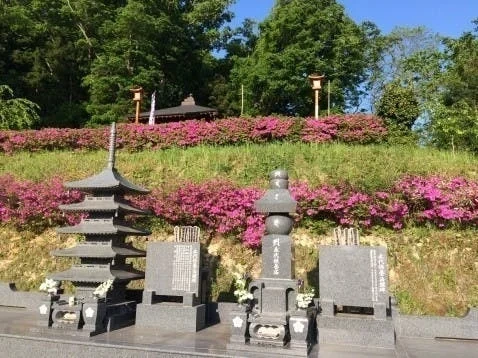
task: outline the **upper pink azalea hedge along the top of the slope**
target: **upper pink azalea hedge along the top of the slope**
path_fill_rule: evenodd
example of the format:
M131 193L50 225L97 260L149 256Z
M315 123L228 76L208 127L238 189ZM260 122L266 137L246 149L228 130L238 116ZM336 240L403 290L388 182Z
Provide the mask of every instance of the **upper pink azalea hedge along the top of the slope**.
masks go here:
M0 152L40 150L97 150L107 148L109 128L0 131ZM130 151L158 150L199 144L261 143L297 140L321 143L343 141L372 143L387 134L383 121L373 115L354 114L312 118L226 118L188 120L155 126L121 124L118 145Z

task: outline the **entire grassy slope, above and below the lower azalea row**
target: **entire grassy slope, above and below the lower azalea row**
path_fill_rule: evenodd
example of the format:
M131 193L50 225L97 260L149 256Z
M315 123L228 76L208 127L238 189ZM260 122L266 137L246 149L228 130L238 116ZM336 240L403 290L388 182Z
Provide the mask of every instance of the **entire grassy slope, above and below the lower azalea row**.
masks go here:
M60 175L80 179L104 167L106 152L19 153L0 157L0 174L46 180ZM119 152L117 168L129 179L149 188L176 186L181 181L228 178L238 185L267 185L267 173L277 167L290 177L321 182L348 181L364 190L383 189L405 174L463 175L478 180L478 160L465 153L452 155L431 149L396 146L308 145L275 143L231 147L194 147L159 152ZM169 232L168 232L169 230ZM157 227L151 240L164 240L170 228ZM0 229L0 280L14 280L22 288L35 288L46 272L70 262L52 259L48 252L72 245L75 238L59 239L49 230L40 235ZM66 240L66 241L65 241ZM144 241L133 238L139 247ZM330 237L294 230L296 274L316 285L317 245ZM402 310L409 313L461 314L478 305L478 240L476 231L440 231L408 228L396 233L373 230L363 242L389 247L391 290ZM208 247L215 276L213 296L231 297L230 272L237 264L253 276L260 273L257 252L231 238L212 238ZM251 260L251 257L253 259ZM138 262L139 267L144 261Z

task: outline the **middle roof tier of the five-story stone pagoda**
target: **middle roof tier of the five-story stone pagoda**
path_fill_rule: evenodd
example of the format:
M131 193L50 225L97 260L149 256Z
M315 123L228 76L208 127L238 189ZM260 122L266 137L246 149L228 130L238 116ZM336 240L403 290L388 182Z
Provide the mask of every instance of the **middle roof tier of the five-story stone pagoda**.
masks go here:
M57 228L59 234L83 234L83 235L137 235L146 236L151 232L143 229L135 229L115 219L82 219L74 226Z

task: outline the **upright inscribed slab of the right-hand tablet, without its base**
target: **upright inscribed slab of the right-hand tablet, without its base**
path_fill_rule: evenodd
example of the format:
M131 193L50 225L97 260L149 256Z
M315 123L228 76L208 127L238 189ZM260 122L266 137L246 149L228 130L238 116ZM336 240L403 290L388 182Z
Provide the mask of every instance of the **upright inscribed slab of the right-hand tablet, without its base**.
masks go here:
M321 300L341 306L389 306L385 247L320 246L319 250Z

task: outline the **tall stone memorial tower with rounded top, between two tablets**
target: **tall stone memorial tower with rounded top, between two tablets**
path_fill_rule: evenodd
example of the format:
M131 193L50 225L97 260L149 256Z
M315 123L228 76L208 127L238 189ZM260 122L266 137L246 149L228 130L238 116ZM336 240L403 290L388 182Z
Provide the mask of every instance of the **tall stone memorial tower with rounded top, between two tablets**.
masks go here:
M254 296L251 310L231 313L232 334L228 349L278 355L307 356L315 338L316 309L296 307L298 282L294 279L294 248L290 237L291 213L297 202L288 190L288 174L275 170L270 186L255 203L266 213L266 235L262 238L261 277L249 285Z

